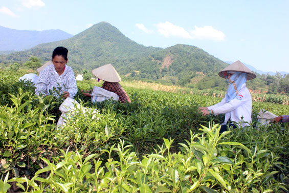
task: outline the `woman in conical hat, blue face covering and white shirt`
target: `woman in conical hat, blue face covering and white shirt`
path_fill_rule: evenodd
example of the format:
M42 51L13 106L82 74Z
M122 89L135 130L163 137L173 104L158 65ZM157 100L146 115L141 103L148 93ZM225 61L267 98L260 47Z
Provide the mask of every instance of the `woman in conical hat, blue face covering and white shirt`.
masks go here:
M225 114L220 133L227 131L226 124L229 120L241 122L241 126L248 126L252 120L252 98L246 87L246 81L256 78L256 75L239 60L218 74L229 82L225 98L215 105L201 107L199 110L203 115ZM229 126L236 127L232 123Z

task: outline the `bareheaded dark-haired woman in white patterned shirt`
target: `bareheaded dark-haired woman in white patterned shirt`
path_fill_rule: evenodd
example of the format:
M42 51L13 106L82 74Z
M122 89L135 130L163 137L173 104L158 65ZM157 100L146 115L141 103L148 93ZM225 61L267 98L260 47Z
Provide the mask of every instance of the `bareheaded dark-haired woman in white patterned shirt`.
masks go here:
M52 53L53 65L47 66L39 73L39 79L36 83L35 93L37 95L49 95L59 97L62 94L64 98L73 98L77 93L77 85L74 72L71 67L66 66L68 49L57 47Z

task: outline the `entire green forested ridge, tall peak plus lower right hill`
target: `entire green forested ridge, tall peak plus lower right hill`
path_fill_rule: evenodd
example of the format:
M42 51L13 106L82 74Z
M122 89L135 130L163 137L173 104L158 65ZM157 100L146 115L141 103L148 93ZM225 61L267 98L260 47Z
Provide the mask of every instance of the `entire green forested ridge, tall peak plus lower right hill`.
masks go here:
M69 39L1 55L0 62L24 63L30 56L36 56L44 63L51 60L52 51L57 46L69 49L69 66L75 71L92 70L112 63L120 75L129 78L181 85L195 84L204 77L215 77L218 71L228 66L194 46L175 45L162 49L139 45L106 22L96 24Z

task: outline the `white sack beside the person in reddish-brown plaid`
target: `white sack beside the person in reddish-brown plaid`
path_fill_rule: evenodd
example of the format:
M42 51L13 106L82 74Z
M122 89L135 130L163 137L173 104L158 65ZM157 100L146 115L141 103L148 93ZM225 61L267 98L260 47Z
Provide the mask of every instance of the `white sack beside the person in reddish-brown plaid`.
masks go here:
M113 100L119 100L119 96L116 93L107 91L100 87L93 87L91 96L92 102L101 102L104 100L109 100L110 98L113 98Z

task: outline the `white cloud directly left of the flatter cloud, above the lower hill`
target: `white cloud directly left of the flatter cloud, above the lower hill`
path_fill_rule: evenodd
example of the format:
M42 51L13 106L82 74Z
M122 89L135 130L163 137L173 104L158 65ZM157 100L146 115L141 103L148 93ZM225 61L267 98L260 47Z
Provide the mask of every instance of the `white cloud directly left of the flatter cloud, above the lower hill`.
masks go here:
M157 24L157 28L160 34L164 35L165 37L169 36L177 36L183 37L185 39L192 39L193 37L187 32L184 28L180 26L175 26L169 22L159 23Z

